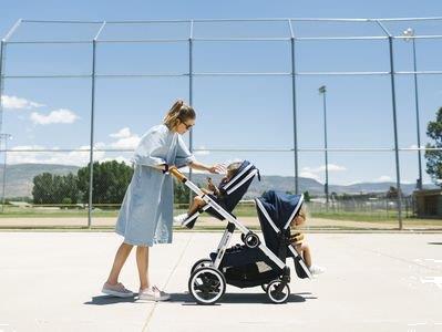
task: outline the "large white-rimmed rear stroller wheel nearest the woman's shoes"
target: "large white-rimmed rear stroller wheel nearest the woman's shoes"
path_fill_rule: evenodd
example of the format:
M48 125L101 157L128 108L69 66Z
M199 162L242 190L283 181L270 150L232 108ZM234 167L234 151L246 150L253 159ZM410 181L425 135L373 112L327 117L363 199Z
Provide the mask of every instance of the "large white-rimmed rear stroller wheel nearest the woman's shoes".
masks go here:
M226 292L226 278L212 267L196 269L188 279L188 292L199 304L214 304Z

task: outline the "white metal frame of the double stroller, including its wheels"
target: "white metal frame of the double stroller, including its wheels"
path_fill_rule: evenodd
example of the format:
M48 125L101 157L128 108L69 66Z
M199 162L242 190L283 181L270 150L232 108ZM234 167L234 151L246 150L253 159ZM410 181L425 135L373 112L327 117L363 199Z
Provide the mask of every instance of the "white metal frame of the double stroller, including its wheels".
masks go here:
M187 179L187 177L184 174L182 174L177 168L169 169L169 173L173 176L175 176L178 181L183 183L192 191L202 197L202 199L206 203L203 210L206 210L207 208L212 207L213 209L215 209L216 212L223 216L225 220L227 220L226 229L217 247L215 260L214 261L212 261L212 259L198 260L191 270L188 287L191 294L194 297L197 303L214 304L224 294L227 282L223 272L219 270L219 266L223 261L226 249L230 243L235 229L238 229L241 232L241 239L248 248L259 248L282 271L281 273L282 278L280 280L274 280L268 286L266 287L261 286L261 287L266 291L270 301L273 301L274 303L286 302L290 294L290 289L288 287L288 283L290 282L290 268L259 239L257 234L245 227L233 214L226 211L223 207L220 207L209 195L204 194L198 186L196 186L194 183ZM247 176L247 179L244 179L240 184L247 181L250 177L254 177L257 173L258 173L257 169L251 170L250 174ZM238 187L240 184L237 184L235 187ZM230 190L234 190L234 187L230 188ZM257 205L259 207L258 201ZM194 216L192 216L191 220L186 220L186 222L192 221L198 215L199 212L195 214ZM275 231L279 232L279 229L277 229L276 225L271 221L269 217L268 221L270 222L270 225L273 225ZM294 255L294 261L298 260L301 263L301 267L305 270L306 274L309 278L311 278L310 271L305 264L300 255L289 243L288 248ZM203 280L206 280L208 282L209 286L203 284L201 286L201 288L205 288L207 293L215 293L214 297L206 299L196 294L195 280L197 278L203 278Z

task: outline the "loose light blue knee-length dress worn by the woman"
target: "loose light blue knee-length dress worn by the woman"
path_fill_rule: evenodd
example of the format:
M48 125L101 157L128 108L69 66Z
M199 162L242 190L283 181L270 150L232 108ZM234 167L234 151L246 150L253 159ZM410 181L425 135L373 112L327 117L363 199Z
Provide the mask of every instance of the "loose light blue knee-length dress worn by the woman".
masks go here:
M152 127L141 138L134 155L134 175L124 196L115 231L135 246L172 242L172 175L152 166L185 166L194 162L182 136L164 124Z

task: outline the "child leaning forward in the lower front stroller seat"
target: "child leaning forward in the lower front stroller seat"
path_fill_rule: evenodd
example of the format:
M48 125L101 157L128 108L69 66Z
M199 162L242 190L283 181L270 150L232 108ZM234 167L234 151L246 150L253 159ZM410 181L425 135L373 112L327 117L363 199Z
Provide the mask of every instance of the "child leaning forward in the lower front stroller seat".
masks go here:
M312 276L325 272L325 269L311 263L311 251L309 245L305 241L304 234L299 230L307 220L307 208L302 205L298 215L290 222L290 243L295 250L302 257Z

